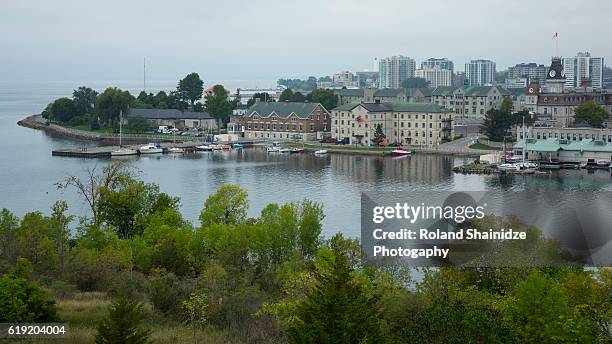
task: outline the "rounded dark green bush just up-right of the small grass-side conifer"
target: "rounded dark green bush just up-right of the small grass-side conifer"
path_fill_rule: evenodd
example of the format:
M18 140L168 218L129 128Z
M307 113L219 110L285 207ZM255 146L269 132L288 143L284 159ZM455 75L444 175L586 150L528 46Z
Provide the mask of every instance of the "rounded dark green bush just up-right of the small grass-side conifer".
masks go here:
M147 283L147 293L153 307L163 313L176 312L185 298L185 291L175 274L156 269Z

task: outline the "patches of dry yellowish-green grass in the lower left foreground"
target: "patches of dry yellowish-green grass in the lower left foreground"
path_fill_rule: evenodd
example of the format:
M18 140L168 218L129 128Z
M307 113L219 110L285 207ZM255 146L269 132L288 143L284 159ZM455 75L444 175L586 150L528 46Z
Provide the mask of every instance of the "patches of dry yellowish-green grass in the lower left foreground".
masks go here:
M60 322L68 324L68 338L61 339L19 339L8 343L76 343L93 344L97 333L98 322L106 316L111 300L104 293L77 292L56 300ZM153 343L193 343L193 332L187 325L173 319L167 319L155 314L150 304L145 304L149 313L143 321L143 326L151 330ZM235 343L242 342L232 339L227 331L204 328L196 331L198 343Z

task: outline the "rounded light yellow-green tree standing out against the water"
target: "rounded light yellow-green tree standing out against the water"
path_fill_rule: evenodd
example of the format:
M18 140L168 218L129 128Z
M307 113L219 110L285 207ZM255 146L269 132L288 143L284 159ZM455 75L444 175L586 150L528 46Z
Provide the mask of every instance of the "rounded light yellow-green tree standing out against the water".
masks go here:
M216 223L236 225L246 219L247 192L237 185L224 185L204 202L200 213L202 227Z

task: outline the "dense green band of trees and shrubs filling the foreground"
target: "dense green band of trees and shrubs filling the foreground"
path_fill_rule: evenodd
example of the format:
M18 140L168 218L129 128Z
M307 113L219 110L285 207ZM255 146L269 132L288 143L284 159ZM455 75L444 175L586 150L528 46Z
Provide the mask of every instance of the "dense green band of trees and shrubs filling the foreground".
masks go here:
M415 281L400 266L362 265L358 240L324 237L323 207L308 200L249 217L247 192L226 185L192 224L178 198L125 163L57 186L76 190L90 216L63 201L50 215L0 213L0 322L62 321L48 291L77 289L114 298L99 343L150 342L152 316L245 343L612 339L610 269L440 268Z

